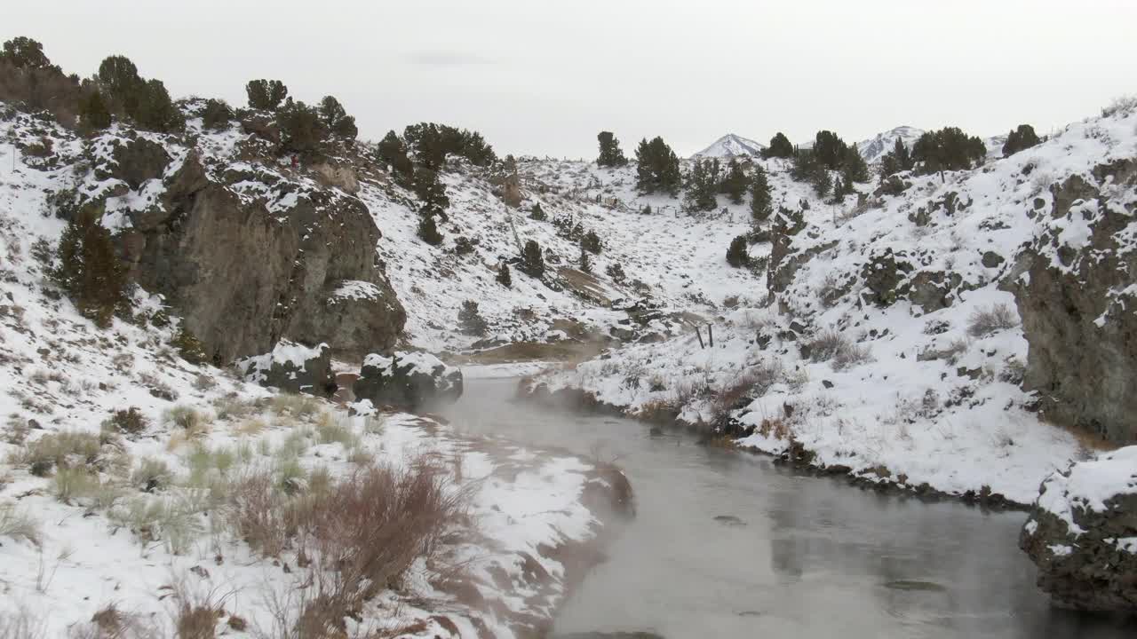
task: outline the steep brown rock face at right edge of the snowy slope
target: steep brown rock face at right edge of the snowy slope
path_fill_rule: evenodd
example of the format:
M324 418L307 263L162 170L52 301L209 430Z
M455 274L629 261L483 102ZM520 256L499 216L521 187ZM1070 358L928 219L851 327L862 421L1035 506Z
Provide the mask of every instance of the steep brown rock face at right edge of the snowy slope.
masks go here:
M1005 285L1030 346L1026 388L1052 421L1137 441L1137 160L1073 175L1051 198Z

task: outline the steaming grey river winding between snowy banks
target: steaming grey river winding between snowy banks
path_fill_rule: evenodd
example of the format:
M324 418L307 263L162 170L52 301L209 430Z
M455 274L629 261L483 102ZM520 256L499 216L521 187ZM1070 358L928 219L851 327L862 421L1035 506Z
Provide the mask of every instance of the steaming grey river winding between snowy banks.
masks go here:
M557 633L1137 637L1124 622L1049 607L1016 546L1022 513L863 491L631 420L512 403L515 385L468 381L447 410L455 428L619 457L636 492L637 517Z

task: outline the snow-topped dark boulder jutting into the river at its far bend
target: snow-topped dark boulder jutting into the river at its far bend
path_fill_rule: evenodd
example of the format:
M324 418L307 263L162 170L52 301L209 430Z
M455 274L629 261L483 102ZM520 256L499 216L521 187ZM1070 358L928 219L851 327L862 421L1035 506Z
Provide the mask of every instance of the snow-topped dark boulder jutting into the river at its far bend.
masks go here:
M428 352L368 355L352 387L356 399L416 410L462 397L462 371Z

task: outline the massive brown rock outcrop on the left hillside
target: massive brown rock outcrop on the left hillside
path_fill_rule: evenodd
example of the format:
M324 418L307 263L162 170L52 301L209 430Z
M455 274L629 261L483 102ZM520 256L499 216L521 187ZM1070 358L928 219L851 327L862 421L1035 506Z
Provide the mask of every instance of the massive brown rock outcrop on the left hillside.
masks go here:
M392 347L406 322L376 264L380 231L340 190L190 150L161 201L131 221L119 236L134 280L166 297L215 362L281 339L358 360Z

